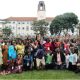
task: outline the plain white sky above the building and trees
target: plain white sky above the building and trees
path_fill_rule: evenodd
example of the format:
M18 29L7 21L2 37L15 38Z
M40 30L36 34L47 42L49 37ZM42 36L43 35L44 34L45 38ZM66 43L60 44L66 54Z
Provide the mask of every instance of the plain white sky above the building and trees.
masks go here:
M47 17L73 12L80 19L80 0L0 0L0 19L37 16L39 1L45 2Z

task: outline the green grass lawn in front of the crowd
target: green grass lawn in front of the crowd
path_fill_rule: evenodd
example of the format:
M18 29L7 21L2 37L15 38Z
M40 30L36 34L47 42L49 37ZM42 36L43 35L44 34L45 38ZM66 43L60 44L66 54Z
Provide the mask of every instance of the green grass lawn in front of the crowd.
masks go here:
M0 75L0 79L4 80L22 80L22 79L61 79L61 80L80 80L80 73L76 74L67 70L43 70L43 71L26 71L20 74L9 74L9 75Z

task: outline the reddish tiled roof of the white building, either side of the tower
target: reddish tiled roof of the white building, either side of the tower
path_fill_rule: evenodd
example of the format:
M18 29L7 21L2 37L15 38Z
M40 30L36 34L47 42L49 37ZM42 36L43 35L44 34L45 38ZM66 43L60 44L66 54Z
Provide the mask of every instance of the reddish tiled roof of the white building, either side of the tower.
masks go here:
M37 17L9 17L4 19L4 21L35 21L37 20ZM47 21L52 21L53 17L47 17Z

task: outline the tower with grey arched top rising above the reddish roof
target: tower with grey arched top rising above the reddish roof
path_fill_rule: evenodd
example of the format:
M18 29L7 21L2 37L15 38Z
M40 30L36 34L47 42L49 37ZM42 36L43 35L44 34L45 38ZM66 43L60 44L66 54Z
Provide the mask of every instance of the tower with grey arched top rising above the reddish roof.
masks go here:
M37 10L37 20L46 19L46 10L44 1L39 1Z

